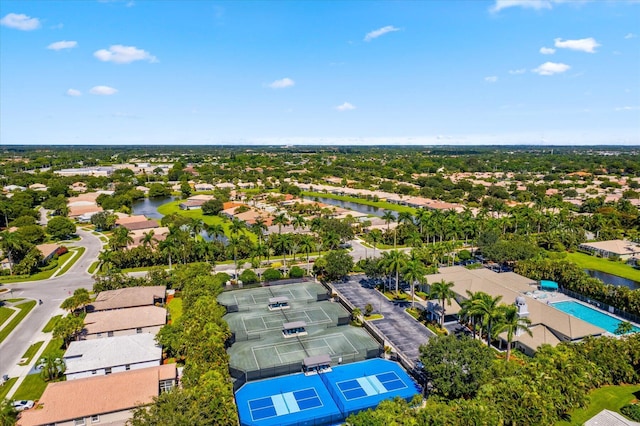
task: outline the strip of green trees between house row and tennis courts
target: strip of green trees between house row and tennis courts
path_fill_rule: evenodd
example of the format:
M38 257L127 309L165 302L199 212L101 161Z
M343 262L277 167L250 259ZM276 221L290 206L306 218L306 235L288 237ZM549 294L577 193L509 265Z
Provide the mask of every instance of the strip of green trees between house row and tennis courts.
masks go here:
M216 296L226 274L211 275L210 266L177 271L183 280L183 314L158 333L166 355L184 361L182 387L163 393L150 407L141 407L130 424L237 425L229 359L225 342L231 332Z

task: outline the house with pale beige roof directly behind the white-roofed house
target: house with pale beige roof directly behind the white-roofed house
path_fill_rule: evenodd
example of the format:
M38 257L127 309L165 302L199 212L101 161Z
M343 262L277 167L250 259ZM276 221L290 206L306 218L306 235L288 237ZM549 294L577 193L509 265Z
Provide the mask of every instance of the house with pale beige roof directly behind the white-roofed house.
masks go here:
M167 322L167 311L159 306L138 306L90 312L84 319L82 337L86 340L132 334L158 334Z

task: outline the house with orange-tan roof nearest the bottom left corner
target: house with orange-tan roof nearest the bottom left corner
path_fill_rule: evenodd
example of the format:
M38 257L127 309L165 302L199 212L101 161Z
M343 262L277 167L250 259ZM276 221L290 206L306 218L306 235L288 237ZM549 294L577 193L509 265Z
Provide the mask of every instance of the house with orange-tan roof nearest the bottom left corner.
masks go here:
M140 405L178 385L175 364L50 383L18 426L124 425Z

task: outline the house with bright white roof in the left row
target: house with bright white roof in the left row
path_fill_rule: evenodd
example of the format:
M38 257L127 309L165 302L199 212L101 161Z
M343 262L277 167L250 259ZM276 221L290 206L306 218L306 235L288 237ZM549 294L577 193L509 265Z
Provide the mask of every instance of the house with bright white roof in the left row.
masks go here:
M162 347L151 333L71 342L63 359L67 380L106 376L162 363Z

